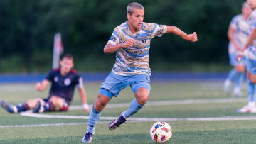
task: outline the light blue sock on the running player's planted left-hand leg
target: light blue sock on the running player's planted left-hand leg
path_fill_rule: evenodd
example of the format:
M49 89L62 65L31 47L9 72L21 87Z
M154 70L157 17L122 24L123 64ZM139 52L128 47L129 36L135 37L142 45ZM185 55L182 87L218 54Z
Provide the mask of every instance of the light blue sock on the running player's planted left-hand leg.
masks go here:
M86 132L94 133L95 126L96 126L97 121L99 121L99 119L100 119L101 112L102 111L96 111L94 109L94 106L92 106L92 111L90 111L90 116L89 116Z

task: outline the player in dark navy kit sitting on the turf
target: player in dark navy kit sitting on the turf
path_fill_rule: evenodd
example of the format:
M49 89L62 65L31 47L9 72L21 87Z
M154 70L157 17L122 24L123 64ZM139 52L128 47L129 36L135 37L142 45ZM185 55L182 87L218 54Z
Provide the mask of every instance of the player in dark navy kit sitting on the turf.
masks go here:
M60 68L50 70L43 82L36 84L36 89L40 92L44 91L51 84L49 97L47 99L28 99L24 104L12 106L5 101L1 101L1 107L9 113L19 113L33 109L33 112L46 111L68 111L68 106L73 99L75 85L78 85L78 92L82 102L82 107L89 112L87 104L87 95L83 87L82 77L73 69L73 56L65 55L60 60Z

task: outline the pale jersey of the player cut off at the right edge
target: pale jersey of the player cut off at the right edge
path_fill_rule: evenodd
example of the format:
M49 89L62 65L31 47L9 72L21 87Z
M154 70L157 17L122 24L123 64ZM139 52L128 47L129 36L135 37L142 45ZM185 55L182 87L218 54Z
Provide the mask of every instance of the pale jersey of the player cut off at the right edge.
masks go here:
M256 9L250 14L249 20L249 33L252 33L252 29L256 29ZM249 58L251 60L256 60L256 39L253 40L252 44L249 46Z

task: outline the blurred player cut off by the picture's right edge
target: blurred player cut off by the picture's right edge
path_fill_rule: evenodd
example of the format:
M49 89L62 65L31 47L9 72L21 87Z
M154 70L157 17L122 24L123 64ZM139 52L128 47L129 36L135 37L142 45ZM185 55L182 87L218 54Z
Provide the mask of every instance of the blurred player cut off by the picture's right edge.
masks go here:
M247 39L242 54L238 55L238 59L244 55L245 50L249 48L247 60L247 79L248 79L248 104L238 109L238 113L256 113L255 106L255 84L256 84L256 0L247 0L247 3L252 9L252 13L248 19L250 36Z

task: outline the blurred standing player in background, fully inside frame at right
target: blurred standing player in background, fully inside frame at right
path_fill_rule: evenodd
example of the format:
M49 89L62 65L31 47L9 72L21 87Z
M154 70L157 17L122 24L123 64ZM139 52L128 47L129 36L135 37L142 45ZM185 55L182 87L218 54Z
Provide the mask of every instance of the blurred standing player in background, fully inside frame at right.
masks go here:
M230 43L228 45L228 55L230 57L230 65L234 68L230 70L228 78L224 83L224 90L227 94L230 94L232 82L235 82L233 89L233 96L242 96L241 85L245 76L245 61L238 60L238 52L242 50L242 47L247 42L249 37L249 25L247 19L250 16L252 9L245 2L242 5L242 14L235 16L228 28L228 38Z

